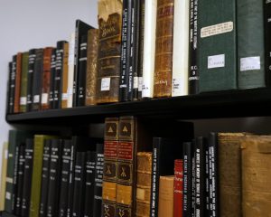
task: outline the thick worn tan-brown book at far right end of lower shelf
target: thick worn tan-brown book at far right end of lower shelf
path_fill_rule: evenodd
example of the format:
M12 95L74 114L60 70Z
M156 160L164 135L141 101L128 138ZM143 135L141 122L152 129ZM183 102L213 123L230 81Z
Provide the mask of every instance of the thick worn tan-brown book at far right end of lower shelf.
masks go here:
M247 136L241 149L243 216L270 216L271 137Z

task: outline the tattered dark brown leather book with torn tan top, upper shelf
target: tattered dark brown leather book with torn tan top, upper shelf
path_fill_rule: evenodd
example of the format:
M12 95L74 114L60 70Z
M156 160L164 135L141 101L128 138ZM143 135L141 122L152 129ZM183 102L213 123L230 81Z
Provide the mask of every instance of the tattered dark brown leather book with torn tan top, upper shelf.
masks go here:
M98 0L97 103L118 101L122 1Z

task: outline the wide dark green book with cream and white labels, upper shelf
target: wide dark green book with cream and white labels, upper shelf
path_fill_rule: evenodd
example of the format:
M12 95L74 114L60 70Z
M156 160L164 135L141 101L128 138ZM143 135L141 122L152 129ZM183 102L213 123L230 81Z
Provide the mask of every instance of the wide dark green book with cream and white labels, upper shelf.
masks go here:
M197 60L201 92L237 89L236 4L232 0L199 1Z

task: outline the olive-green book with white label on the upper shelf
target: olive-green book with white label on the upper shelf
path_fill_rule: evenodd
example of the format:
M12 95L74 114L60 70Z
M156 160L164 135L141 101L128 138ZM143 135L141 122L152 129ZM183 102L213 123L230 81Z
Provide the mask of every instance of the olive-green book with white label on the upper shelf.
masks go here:
M29 59L29 52L23 52L23 56L22 56L22 74L21 74L21 90L20 90L20 112L25 112L26 111L28 59Z

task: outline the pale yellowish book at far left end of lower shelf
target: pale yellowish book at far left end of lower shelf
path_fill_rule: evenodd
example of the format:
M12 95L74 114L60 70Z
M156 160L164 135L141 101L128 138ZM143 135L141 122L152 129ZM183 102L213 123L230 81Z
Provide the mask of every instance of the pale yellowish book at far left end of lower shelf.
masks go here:
M1 188L0 188L0 211L5 210L5 179L6 165L8 158L8 143L5 142L2 147L2 168L1 168Z

